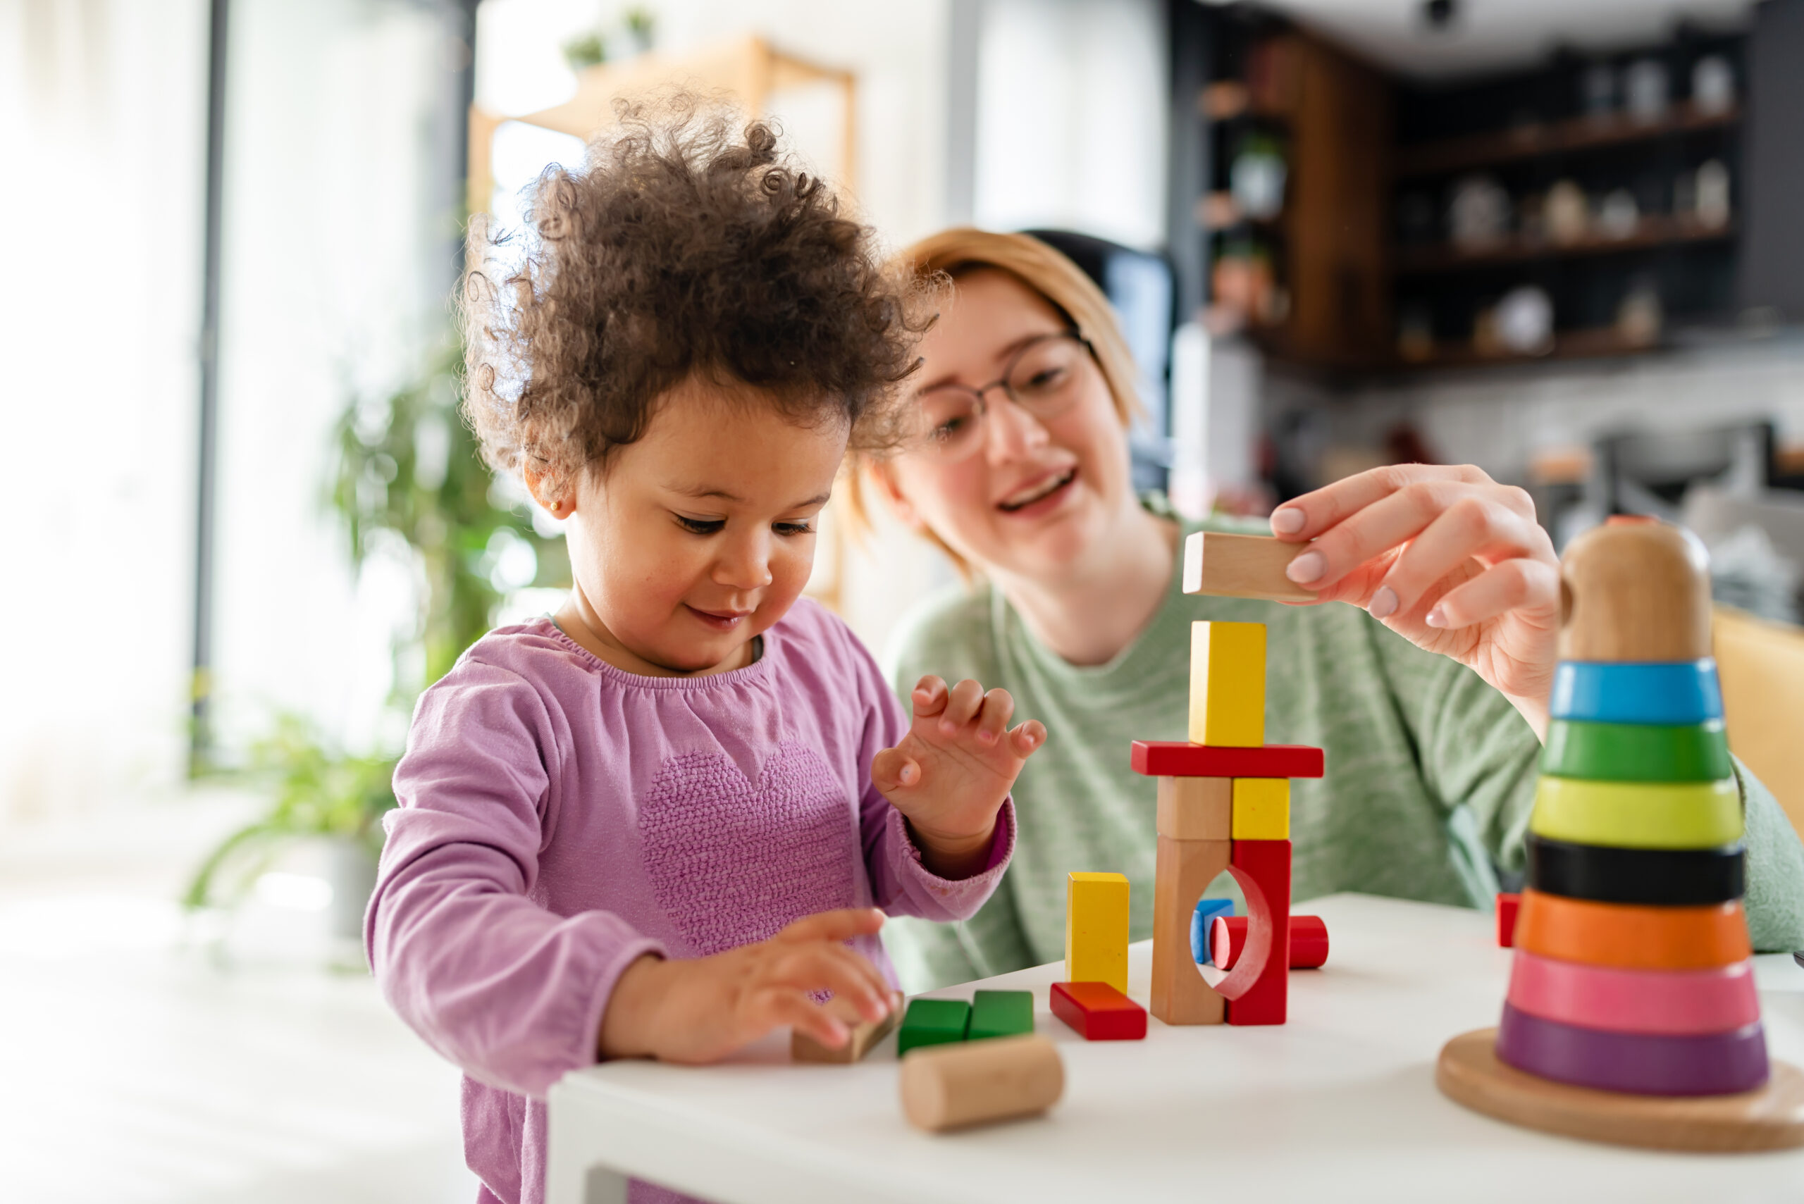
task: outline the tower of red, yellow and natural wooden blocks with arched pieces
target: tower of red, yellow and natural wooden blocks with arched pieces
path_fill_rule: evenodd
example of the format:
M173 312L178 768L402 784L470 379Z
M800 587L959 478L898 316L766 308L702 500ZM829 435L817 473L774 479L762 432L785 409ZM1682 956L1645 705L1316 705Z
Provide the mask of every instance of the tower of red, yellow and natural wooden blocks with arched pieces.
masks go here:
M1297 544L1198 532L1185 593L1308 598L1284 577ZM1165 1024L1283 1024L1290 993L1290 779L1321 777L1322 750L1265 743L1265 624L1191 629L1189 741L1135 741L1158 779L1153 1015ZM1191 955L1191 916L1220 872L1247 894L1247 943L1214 986Z

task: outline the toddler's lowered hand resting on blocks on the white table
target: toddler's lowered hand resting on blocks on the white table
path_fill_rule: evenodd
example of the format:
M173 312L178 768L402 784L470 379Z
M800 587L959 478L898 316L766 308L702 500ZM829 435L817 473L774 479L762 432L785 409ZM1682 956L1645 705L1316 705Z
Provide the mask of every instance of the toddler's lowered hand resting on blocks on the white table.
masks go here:
M839 1049L861 1020L882 1020L900 999L846 941L873 935L884 914L846 908L806 916L769 941L713 957L635 961L601 1018L603 1058L714 1062L779 1026ZM832 991L826 1004L814 1000Z

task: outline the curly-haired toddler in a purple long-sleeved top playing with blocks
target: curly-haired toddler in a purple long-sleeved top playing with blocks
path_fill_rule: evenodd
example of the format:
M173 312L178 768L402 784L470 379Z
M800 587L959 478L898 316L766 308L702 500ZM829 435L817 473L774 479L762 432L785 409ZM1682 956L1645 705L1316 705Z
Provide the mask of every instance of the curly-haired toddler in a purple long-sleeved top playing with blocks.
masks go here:
M420 698L366 921L386 999L465 1072L483 1202L543 1199L566 1071L888 1015L882 912L976 912L1045 741L976 681L924 678L906 719L799 597L931 296L767 126L621 117L545 175L520 267L471 236L465 415L566 523L575 588Z

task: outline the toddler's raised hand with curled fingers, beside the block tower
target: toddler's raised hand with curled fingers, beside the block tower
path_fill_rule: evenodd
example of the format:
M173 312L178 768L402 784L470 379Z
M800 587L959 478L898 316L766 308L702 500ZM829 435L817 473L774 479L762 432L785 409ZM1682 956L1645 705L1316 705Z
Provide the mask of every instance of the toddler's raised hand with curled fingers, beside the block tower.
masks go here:
M1008 690L983 692L969 678L945 689L925 676L911 696L915 723L895 748L871 759L871 784L909 822L922 862L942 878L983 869L1021 764L1046 743L1037 719L1012 732Z

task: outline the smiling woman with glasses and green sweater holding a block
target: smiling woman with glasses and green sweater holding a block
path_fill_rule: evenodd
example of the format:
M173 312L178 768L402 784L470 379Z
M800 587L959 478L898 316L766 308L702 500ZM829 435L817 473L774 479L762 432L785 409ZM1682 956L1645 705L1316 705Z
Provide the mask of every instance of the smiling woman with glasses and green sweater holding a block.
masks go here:
M884 930L906 984L1057 961L1068 871L1126 872L1133 937L1151 935L1155 786L1128 746L1185 739L1194 620L1266 624L1268 739L1328 750L1328 777L1292 788L1297 899L1490 907L1492 865L1523 865L1555 663L1559 562L1528 496L1472 467L1375 469L1272 515L1315 541L1290 577L1319 604L1183 595L1183 535L1247 528L1135 496L1133 369L1097 287L1021 234L954 229L904 254L953 290L913 377L924 434L862 479L976 584L904 624L891 680L994 683L1050 732L1016 782L1001 889L969 921ZM1804 849L1737 775L1755 948L1804 946Z

